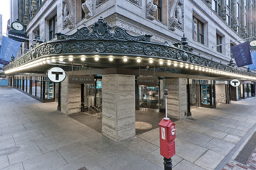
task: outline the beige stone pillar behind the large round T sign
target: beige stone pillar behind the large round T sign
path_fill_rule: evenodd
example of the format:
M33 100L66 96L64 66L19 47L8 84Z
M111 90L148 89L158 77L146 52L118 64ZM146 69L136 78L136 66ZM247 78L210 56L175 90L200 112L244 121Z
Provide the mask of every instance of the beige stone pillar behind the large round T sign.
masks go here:
M61 82L61 112L69 115L81 111L81 84L69 84L69 76Z

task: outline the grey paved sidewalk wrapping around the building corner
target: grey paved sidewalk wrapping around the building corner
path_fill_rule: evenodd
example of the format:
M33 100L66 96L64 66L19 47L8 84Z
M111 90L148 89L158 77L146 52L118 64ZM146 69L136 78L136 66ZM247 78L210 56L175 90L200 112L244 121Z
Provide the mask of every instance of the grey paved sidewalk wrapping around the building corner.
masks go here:
M256 152L249 166L234 159L255 132L255 103L251 97L216 109L195 108L190 118L175 121L173 169L253 169ZM113 142L56 108L55 102L0 87L0 169L163 169L158 128Z

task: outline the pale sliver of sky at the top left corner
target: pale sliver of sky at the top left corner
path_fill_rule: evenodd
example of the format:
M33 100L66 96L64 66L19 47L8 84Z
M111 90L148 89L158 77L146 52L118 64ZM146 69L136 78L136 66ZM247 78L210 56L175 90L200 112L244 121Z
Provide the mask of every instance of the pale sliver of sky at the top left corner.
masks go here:
M9 0L0 0L0 14L3 16L3 33L7 31L7 21L9 20ZM4 34L4 36L6 36Z

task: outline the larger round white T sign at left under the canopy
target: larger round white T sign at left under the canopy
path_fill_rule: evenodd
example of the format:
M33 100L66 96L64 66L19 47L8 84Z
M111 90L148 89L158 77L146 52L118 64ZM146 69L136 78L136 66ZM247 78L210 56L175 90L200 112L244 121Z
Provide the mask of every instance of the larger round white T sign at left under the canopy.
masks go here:
M47 77L50 81L58 83L66 78L66 72L62 68L50 68L50 70L47 71Z

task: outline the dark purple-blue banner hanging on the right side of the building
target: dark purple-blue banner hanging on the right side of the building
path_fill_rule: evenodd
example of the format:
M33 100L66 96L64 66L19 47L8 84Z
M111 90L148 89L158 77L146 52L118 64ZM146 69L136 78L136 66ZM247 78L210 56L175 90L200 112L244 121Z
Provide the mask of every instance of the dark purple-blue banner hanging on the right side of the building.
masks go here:
M246 41L243 44L237 46L231 46L231 52L236 60L238 67L252 64L251 52L249 51L249 42Z

